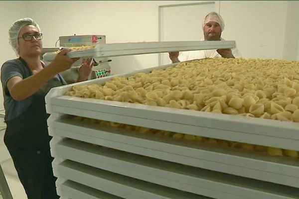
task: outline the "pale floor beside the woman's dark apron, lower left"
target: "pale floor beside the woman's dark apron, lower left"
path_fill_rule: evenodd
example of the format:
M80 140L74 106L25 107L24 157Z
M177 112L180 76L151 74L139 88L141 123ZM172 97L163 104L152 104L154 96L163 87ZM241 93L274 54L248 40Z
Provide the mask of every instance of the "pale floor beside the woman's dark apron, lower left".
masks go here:
M5 125L3 123L3 119L0 118L0 164L3 173L5 175L13 199L27 199L23 186L21 185L17 177L13 162L3 143L4 131Z

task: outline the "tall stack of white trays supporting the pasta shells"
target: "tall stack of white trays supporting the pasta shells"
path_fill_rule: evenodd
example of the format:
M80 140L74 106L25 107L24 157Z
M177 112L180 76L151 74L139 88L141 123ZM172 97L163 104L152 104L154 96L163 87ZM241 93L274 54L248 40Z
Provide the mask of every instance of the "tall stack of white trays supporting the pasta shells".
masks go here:
M154 69L168 66L174 65ZM46 96L61 197L299 199L298 159L198 145L73 116L296 151L299 123L64 96L74 85L103 84L113 77L54 88Z

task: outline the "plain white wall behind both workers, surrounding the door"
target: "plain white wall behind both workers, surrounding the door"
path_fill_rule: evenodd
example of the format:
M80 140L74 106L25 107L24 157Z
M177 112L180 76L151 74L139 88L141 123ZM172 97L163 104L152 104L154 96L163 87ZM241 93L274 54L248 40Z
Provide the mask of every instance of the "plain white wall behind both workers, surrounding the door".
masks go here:
M21 17L32 17L40 25L44 47L72 34L104 34L107 43L149 42L158 40L158 6L188 2L197 1L0 1L0 41L5 49L0 62L15 58L7 30ZM245 58L299 60L297 10L296 1L220 1L226 23L222 36L236 40ZM201 25L202 19L198 21ZM115 73L126 73L157 64L157 54L149 54L115 57L110 65Z

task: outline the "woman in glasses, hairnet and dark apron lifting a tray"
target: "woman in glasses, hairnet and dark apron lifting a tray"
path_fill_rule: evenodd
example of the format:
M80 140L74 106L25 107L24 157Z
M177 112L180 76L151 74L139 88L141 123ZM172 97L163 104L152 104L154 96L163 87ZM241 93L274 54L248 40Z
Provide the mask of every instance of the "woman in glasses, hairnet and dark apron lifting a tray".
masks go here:
M64 49L51 64L40 60L42 33L31 18L15 21L9 29L9 43L19 55L2 65L6 131L4 143L11 155L28 199L56 199L56 178L50 154L45 95L53 87L65 85L58 74L78 59L69 58ZM78 81L87 80L92 59L85 59Z

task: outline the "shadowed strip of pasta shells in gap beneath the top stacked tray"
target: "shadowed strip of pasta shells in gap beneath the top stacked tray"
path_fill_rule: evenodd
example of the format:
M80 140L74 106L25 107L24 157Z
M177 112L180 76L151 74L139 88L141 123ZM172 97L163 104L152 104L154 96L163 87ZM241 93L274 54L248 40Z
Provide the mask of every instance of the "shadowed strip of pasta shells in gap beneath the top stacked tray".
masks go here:
M134 126L134 125L98 120L98 119L87 118L87 117L74 116L74 118L76 120L80 120L80 121L84 121L84 122L96 123L101 126L124 128L129 131L139 132L142 134L150 134L152 136L164 136L164 137L168 137L168 138L172 138L172 139L182 139L182 140L190 141L193 143L195 142L197 144L206 143L206 144L217 145L217 146L221 146L221 147L236 148L236 149L240 149L243 151L256 151L256 152L267 153L270 156L288 156L288 157L293 157L293 158L299 157L299 153L294 150L280 149L280 148L267 147L267 146L262 146L262 145L254 145L254 144L241 143L241 142L233 142L233 141L222 140L222 139L214 139L214 138L209 138L209 137L191 135L188 133L177 133L177 132L171 132L171 131L165 131L165 130L158 130L158 129L153 129L153 128ZM95 146L94 144L92 144L92 145Z

